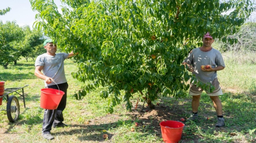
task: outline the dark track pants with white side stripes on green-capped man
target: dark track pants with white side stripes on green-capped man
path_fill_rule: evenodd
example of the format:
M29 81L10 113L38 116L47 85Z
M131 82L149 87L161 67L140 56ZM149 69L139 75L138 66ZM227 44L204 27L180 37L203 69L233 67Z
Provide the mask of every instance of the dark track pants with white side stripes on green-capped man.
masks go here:
M52 125L60 125L64 118L62 111L66 107L66 101L67 101L67 89L68 89L68 83L58 84L61 91L65 92L62 99L60 100L60 104L55 110L44 110L44 119L43 119L43 134L47 134L51 132ZM47 86L47 88L52 89L58 89L57 85L50 85Z

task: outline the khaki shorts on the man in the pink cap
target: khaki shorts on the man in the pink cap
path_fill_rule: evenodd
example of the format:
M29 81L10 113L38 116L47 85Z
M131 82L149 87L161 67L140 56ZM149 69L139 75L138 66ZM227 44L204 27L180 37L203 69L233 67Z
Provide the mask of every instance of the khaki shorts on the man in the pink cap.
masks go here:
M223 94L217 78L213 80L212 85L215 87L215 89L212 93L206 92L206 94L208 94L209 96L219 96ZM201 89L201 87L196 87L196 84L190 84L189 95L200 95L202 94L202 92L203 89Z

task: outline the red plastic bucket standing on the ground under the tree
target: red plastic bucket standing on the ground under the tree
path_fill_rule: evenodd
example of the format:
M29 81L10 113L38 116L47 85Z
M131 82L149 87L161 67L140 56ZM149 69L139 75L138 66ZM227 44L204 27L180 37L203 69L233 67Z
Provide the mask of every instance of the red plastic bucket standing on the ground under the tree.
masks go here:
M185 124L178 121L162 121L160 122L162 137L165 143L178 143Z

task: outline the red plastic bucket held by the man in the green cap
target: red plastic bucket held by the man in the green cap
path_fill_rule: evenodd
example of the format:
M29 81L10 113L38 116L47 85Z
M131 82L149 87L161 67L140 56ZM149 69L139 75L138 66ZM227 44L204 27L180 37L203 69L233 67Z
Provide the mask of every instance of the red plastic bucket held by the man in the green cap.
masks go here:
M58 89L41 89L40 107L49 110L57 109L64 94L63 91Z

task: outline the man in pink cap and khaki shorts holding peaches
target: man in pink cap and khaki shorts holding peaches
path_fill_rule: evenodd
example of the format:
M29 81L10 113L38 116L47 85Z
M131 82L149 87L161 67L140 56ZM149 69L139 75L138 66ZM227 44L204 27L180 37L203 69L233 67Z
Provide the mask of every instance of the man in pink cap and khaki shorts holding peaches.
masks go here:
M212 84L215 89L212 93L206 92L213 102L213 106L217 112L216 127L225 125L225 120L222 115L222 103L219 95L222 95L222 90L217 79L217 71L225 68L224 60L220 51L212 48L214 39L207 32L203 36L203 45L199 48L191 50L188 57L183 61L184 65L188 66L188 70L195 74L196 78L204 83ZM205 65L210 65L206 66ZM203 89L196 87L196 84L191 83L189 94L192 96L192 115L188 120L198 120L199 100Z

